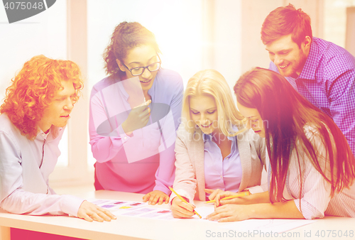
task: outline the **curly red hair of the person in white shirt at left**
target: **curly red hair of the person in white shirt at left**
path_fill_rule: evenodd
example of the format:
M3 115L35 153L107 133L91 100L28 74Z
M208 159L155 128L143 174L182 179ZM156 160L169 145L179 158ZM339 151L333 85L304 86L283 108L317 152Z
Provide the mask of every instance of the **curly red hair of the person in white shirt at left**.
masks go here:
M38 134L38 121L58 91L64 89L60 81L72 81L75 101L84 87L78 65L70 60L53 60L38 55L28 60L6 89L0 113L6 113L21 134L34 139Z

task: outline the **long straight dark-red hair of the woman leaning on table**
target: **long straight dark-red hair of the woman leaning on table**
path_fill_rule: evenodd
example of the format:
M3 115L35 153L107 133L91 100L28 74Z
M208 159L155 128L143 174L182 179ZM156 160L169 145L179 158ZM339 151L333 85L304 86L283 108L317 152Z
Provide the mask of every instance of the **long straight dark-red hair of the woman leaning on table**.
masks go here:
M283 76L256 67L239 78L234 92L239 104L258 109L263 121L268 121L268 127L264 127L272 169L271 202L283 200L291 153L296 153L300 169L300 197L301 166L307 159L332 185L331 196L352 185L355 158L342 131L329 116L296 92ZM307 129L312 130L307 133ZM309 133L314 138L310 138ZM319 146L315 140L320 141Z

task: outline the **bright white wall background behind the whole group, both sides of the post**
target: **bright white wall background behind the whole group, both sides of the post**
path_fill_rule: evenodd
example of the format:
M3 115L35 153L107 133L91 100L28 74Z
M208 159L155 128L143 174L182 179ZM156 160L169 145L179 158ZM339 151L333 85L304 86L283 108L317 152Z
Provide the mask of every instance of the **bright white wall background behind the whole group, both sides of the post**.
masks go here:
M75 0L68 0L75 1ZM268 54L260 40L263 19L285 0L87 0L87 83L104 78L102 53L114 27L121 21L138 21L155 33L163 52L163 67L187 80L198 70L214 68L233 87L253 66L268 67ZM315 36L344 46L346 6L355 0L293 0L312 18ZM0 7L0 98L11 78L26 60L43 54L67 58L67 1L55 4L18 23L7 22ZM89 99L82 99L87 108ZM83 119L87 121L87 119ZM82 138L88 145L88 138ZM64 143L64 141L62 141ZM62 146L62 152L67 149ZM88 147L89 165L94 163ZM62 154L67 156L67 153Z

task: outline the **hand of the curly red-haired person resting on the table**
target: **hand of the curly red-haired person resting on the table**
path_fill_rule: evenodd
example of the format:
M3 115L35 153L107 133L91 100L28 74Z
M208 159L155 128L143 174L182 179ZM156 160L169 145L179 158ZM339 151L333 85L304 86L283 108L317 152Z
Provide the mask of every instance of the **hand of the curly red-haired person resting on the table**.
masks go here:
M116 219L114 214L111 214L109 210L103 209L92 202L87 202L86 200L82 202L77 211L77 217L85 219L89 222L97 221L97 222L110 222L111 219Z

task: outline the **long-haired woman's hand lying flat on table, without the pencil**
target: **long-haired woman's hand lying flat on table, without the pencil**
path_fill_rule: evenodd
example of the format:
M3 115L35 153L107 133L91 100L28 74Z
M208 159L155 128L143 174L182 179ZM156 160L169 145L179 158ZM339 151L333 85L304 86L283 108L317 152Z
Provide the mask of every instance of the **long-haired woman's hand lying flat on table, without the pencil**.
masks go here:
M251 218L251 207L253 205L236 205L226 204L221 207L216 207L212 214L209 214L206 219L218 222L233 222L242 221Z

